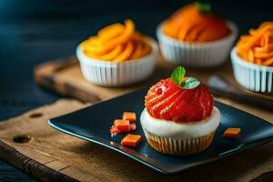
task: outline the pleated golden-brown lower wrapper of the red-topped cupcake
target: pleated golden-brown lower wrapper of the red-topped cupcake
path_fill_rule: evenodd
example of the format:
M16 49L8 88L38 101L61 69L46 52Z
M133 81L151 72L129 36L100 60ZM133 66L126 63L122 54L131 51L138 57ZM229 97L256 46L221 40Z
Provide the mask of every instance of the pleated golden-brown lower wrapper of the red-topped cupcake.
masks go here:
M187 156L204 151L210 146L215 135L215 131L213 131L206 136L177 139L157 136L146 129L144 129L144 133L151 147L158 152L176 156Z

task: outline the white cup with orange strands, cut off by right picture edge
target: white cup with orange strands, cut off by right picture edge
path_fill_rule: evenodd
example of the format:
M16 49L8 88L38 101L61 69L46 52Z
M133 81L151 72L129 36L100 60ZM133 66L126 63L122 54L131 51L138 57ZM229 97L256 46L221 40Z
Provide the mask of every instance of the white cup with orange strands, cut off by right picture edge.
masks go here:
M233 73L241 86L251 91L273 93L273 22L241 35L232 49Z

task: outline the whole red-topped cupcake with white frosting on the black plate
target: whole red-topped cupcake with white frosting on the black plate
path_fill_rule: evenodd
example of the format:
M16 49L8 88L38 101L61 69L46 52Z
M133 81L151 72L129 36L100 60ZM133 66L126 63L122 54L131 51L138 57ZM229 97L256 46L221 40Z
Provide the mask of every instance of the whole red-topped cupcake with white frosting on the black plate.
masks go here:
M192 155L211 144L220 113L208 88L195 77L185 77L178 66L171 77L151 86L140 116L147 141L158 152Z

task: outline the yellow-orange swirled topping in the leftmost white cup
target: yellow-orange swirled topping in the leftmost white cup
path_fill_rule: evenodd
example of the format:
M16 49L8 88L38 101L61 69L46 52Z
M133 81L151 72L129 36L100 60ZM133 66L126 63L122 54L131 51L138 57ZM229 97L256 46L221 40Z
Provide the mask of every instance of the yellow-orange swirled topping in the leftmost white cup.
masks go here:
M125 25L107 25L80 46L86 56L115 62L147 56L152 50L145 36L136 32L130 19L125 21Z

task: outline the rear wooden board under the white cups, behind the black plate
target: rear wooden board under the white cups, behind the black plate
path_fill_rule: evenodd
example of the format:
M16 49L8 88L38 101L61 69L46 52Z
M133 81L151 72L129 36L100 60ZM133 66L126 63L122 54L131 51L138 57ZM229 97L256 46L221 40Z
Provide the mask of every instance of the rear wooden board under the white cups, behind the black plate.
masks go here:
M106 87L90 84L82 75L76 56L53 60L40 66L36 66L34 73L35 81L39 86L53 90L62 96L72 96L85 102L94 103L115 96L120 96L142 87L152 86L159 79L170 76L174 68L175 66L167 64L161 56L158 56L157 67L152 76L144 82L123 87ZM234 79L231 65L228 62L225 65L209 69L187 68L187 75L197 76L205 83L207 83L207 79L210 76L219 75L227 78L228 81L238 86ZM246 89L244 90L249 95L261 96L249 92ZM273 95L267 97L272 99Z

